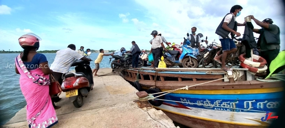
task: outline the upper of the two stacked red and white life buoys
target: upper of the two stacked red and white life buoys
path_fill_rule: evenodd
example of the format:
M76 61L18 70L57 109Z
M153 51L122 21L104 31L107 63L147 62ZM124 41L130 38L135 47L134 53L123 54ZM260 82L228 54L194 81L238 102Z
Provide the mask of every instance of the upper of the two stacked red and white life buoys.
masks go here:
M253 60L257 62L249 61L245 59L245 54L241 54L239 56L239 61L241 61L241 63L244 63L245 65L252 66L252 67L263 67L266 64L266 60L264 58L258 55L254 55L254 54L252 55L252 57L253 57Z

